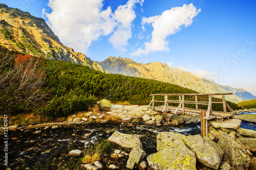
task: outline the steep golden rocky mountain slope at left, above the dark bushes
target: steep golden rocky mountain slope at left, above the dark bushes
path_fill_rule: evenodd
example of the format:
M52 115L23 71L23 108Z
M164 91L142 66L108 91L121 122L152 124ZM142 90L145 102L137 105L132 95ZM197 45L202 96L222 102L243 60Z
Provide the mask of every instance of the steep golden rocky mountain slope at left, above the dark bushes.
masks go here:
M42 18L0 4L0 45L33 56L61 60L105 71L82 53L63 45Z

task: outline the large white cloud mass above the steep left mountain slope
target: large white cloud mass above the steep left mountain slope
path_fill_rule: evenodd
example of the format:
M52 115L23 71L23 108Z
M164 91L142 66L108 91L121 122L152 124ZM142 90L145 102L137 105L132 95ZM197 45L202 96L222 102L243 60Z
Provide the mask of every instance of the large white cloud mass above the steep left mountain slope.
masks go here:
M112 33L109 42L125 51L127 40L132 37L135 4L143 2L130 0L112 12L110 7L102 10L103 0L50 0L48 6L52 12L46 16L60 41L76 51L84 52L100 36Z

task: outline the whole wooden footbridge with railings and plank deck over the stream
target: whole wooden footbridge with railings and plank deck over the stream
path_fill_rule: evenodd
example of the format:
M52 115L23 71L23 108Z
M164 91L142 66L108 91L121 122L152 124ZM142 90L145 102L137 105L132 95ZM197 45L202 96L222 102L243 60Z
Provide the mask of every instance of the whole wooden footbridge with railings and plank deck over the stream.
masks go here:
M224 119L233 118L234 112L229 107L225 100L225 95L229 95L233 93L191 93L191 94L150 94L152 96L151 103L147 106L147 108L152 108L152 110L162 111L162 112L170 112L174 114L183 114L188 116L195 116L201 117L203 111L205 111L204 119L216 119L223 121ZM164 101L157 101L155 100L156 96L164 96ZM195 99L194 101L185 101L185 96L189 95L190 99ZM208 101L198 101L199 96L207 96ZM221 95L222 101L221 102L214 102L212 101L212 96ZM168 100L169 96L179 96L179 100ZM177 98L178 99L178 98ZM155 106L155 103L163 103L164 105ZM179 106L169 106L169 103L178 103ZM151 106L152 104L152 106ZM187 108L186 104L196 105L196 109ZM214 111L212 110L212 104L222 104L223 111ZM201 109L200 105L207 105L207 110ZM229 112L227 111L229 110Z

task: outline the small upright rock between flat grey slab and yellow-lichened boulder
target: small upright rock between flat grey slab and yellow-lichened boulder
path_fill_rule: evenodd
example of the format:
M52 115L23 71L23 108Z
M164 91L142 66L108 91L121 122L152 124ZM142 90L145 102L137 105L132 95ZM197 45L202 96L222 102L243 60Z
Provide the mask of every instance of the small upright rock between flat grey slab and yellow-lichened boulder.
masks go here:
M134 148L129 154L126 167L133 169L134 165L137 165L139 161L143 159L145 156L146 153L143 150L139 148Z

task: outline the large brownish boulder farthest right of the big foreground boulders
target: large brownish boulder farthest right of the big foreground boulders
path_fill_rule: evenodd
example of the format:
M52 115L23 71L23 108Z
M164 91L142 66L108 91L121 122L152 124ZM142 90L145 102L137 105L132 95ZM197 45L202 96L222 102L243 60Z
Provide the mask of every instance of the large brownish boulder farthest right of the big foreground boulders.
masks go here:
M236 141L229 136L222 134L219 140L219 145L222 147L224 161L228 161L231 166L248 167L250 157L247 151Z

